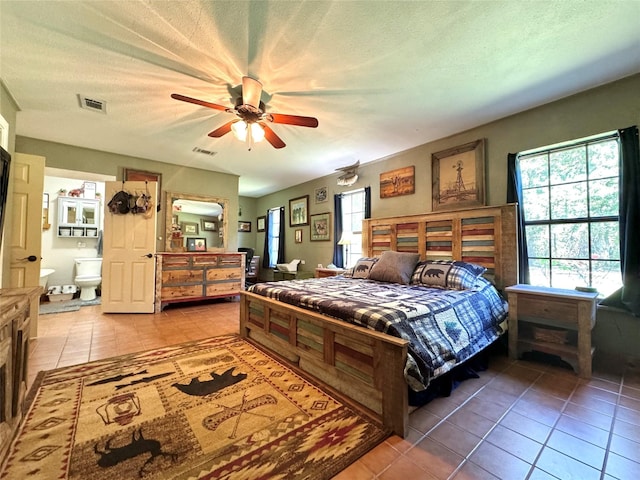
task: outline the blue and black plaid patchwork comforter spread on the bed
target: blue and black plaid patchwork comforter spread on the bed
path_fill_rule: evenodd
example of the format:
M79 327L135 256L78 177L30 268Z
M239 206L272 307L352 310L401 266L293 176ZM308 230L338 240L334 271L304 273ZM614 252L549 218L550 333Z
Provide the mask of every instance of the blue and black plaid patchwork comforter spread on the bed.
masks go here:
M405 378L417 392L496 340L508 309L483 277L472 290L337 276L258 283L248 291L407 340Z

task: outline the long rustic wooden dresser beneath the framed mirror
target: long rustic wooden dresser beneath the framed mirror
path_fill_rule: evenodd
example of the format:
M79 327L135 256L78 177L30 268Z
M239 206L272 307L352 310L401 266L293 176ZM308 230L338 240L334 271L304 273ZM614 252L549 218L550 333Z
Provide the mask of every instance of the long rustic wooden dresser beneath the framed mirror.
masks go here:
M169 303L238 295L244 261L243 253L157 253L156 312Z

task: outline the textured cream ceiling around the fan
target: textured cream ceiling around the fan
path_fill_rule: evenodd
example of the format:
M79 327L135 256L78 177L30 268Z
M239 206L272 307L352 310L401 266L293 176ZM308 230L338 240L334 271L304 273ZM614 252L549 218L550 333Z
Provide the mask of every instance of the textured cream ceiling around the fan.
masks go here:
M19 135L240 176L261 196L640 72L640 2L0 1ZM207 133L243 75L287 147ZM107 114L79 108L103 100ZM194 153L194 147L217 152Z

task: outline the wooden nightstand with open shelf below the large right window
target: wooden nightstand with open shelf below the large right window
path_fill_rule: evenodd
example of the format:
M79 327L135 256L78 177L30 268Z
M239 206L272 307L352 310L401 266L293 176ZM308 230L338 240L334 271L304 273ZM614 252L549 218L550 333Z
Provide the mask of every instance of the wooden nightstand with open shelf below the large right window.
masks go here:
M580 377L591 378L591 330L597 293L514 285L509 295L509 356L536 350L557 355Z

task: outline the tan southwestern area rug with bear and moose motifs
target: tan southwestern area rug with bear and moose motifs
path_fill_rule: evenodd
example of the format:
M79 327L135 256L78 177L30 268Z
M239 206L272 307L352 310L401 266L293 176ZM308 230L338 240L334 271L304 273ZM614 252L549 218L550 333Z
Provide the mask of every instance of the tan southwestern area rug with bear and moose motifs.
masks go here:
M238 336L41 372L0 478L328 479L388 432Z

